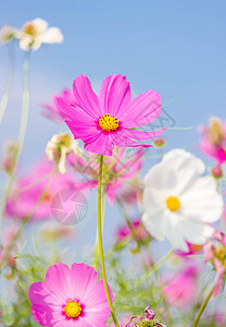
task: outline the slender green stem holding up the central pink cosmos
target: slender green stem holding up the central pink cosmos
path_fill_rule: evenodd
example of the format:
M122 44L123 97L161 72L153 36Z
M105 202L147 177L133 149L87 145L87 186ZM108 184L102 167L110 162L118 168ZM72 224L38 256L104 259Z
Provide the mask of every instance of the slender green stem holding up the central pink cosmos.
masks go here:
M103 256L102 218L101 218L102 216L102 209L101 209L102 168L103 168L103 156L100 156L100 169L99 169L99 177L98 177L98 242L99 242L99 251L100 251L100 264L101 264L104 290L105 290L109 307L111 310L112 318L114 325L116 327L120 327L116 315L114 313L114 308L113 308L113 304L109 291L109 286L106 282L106 274L105 274L105 265L104 265L104 256Z

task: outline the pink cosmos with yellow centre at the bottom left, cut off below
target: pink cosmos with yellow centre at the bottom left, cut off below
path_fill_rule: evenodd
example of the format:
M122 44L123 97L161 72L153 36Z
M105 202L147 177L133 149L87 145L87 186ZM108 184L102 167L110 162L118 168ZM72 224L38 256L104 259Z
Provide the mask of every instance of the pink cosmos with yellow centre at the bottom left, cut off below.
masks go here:
M109 287L110 289L110 287ZM111 292L111 298L113 294ZM85 264L58 264L47 270L46 281L29 288L32 313L48 327L103 327L110 315L103 282Z

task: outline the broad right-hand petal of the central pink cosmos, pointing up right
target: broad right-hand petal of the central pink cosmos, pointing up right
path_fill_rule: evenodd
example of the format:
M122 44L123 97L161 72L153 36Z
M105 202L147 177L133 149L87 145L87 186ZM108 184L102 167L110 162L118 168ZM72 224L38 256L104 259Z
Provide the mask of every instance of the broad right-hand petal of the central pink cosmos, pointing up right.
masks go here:
M149 124L161 113L161 95L153 89L136 97L118 119L128 129Z

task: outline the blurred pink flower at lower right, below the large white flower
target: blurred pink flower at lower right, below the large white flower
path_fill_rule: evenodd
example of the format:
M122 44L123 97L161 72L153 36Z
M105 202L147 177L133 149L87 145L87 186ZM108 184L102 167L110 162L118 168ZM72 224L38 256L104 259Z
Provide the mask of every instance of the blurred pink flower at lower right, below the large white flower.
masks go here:
M197 298L199 269L192 265L179 271L175 278L170 280L163 288L166 301L178 307L191 305Z

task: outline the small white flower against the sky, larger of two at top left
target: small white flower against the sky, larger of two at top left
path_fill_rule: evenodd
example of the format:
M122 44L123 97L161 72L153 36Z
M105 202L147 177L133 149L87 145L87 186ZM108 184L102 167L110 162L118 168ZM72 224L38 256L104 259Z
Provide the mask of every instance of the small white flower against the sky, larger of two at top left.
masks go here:
M16 37L20 39L20 47L27 51L30 48L37 50L41 44L61 44L63 35L58 27L48 27L48 23L41 19L27 22Z

